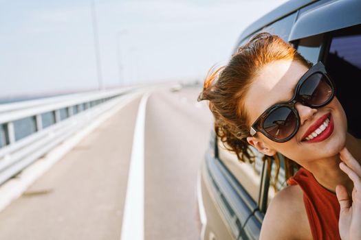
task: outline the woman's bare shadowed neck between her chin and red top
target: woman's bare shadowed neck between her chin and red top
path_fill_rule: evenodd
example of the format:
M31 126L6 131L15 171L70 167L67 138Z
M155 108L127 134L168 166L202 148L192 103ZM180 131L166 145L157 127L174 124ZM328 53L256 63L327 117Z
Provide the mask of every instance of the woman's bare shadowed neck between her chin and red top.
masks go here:
M361 139L355 139L351 134L347 133L346 147L352 156L361 164ZM333 193L336 191L338 184L344 185L351 195L353 182L344 173L340 167L340 155L332 156L318 160L317 164L305 166L316 178L317 182Z

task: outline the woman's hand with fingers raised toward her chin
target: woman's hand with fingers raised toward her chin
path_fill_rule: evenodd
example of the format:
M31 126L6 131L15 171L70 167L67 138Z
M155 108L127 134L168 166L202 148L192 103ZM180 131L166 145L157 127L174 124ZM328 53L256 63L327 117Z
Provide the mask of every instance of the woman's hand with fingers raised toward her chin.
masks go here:
M361 239L361 166L346 147L341 150L340 158L340 169L353 182L352 198L344 186L336 187L336 195L340 202L340 237L343 240Z

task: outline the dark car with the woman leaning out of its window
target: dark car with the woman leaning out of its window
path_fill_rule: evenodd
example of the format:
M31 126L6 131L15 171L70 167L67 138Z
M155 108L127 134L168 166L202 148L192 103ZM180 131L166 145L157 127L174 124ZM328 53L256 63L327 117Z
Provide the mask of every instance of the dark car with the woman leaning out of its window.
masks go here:
M322 61L336 84L348 131L360 139L360 10L359 0L288 1L247 27L234 52L254 34L270 32L292 43L310 62ZM285 167L289 166L281 154L266 158L251 150L257 154L256 160L249 163L245 159L243 163L223 146L215 132L210 134L197 186L202 240L259 239L270 200L287 186Z

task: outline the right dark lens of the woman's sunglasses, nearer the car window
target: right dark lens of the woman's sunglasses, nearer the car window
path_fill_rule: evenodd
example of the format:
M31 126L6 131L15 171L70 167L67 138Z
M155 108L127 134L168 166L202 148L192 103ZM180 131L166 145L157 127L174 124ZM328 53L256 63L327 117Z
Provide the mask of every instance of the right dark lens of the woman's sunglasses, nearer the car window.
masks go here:
M303 82L299 95L307 104L318 106L330 99L332 91L327 77L321 73L315 73Z

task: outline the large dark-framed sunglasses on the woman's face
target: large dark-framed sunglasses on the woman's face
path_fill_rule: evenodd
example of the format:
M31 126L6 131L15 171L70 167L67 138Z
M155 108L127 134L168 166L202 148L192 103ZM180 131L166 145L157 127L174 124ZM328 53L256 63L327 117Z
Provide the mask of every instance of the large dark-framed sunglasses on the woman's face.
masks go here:
M296 102L310 108L322 108L335 96L335 86L322 62L311 67L298 81L291 100L267 108L252 124L250 134L261 132L267 138L285 143L294 137L300 128L300 116Z

